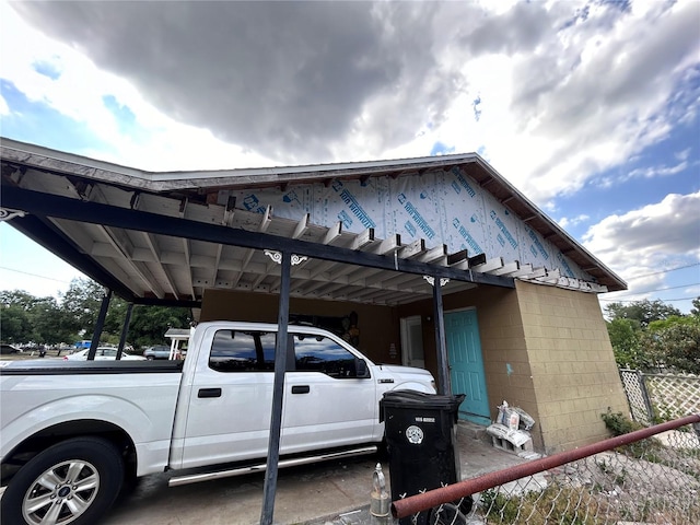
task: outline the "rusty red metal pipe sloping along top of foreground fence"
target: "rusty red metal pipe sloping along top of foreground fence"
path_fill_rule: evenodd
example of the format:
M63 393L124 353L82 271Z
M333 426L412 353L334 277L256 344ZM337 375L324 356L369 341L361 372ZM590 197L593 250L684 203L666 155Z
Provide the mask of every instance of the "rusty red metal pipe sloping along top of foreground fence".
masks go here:
M411 495L409 498L398 500L392 503L392 515L400 518L417 514L421 511L432 509L442 503L465 498L476 492L490 489L492 487L499 487L501 485L514 481L520 478L533 476L534 474L549 470L550 468L560 467L567 463L576 462L587 456L599 454L600 452L609 451L618 446L627 445L635 441L651 438L652 435L666 432L667 430L675 430L679 427L700 423L700 413L686 416L685 418L668 421L666 423L655 424L648 429L637 430L628 434L610 438L609 440L599 441L591 445L582 446L573 451L560 452L553 456L542 457L540 459L534 459L532 462L516 465L511 468L498 470L495 472L485 474L478 478L466 479L447 487L434 489L421 494Z

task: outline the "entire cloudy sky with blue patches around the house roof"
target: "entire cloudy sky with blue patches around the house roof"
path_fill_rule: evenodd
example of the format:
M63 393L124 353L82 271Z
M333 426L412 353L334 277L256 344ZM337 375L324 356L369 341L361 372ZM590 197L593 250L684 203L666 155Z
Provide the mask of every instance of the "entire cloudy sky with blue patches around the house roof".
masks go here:
M5 2L0 135L144 170L478 152L630 290L700 295L700 2ZM0 224L0 290L72 268Z

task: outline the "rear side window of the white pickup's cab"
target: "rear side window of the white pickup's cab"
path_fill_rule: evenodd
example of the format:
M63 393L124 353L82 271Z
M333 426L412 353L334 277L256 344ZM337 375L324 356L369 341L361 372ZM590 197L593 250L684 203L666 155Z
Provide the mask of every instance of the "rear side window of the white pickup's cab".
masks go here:
M218 372L272 372L275 334L217 330L209 353L209 368Z

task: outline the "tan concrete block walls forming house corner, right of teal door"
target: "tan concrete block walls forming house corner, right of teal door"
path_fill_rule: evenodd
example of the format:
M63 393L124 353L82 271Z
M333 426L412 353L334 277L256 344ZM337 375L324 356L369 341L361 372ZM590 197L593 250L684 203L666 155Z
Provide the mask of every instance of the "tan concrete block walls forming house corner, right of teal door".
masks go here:
M476 307L492 417L503 400L536 420L548 454L609 438L600 419L628 404L595 294L516 281L444 298L445 311Z

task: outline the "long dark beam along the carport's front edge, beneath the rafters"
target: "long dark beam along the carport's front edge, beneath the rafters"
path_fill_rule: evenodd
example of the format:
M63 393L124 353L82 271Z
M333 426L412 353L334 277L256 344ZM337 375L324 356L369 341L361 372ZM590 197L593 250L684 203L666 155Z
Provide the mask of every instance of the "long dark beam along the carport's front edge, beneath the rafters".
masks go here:
M2 186L2 201L3 206L8 208L22 210L38 217L82 221L92 224L155 233L159 235L175 235L177 237L231 246L243 246L253 249L288 252L323 260L332 260L335 262L427 275L435 278L450 278L457 281L476 282L503 288L515 288L512 278L472 272L470 270L456 270L444 266L430 265L398 257L387 257L366 252L357 252L279 235L249 232L246 230L233 230L218 224L118 208L100 202L80 201L69 197L59 197L9 185Z

